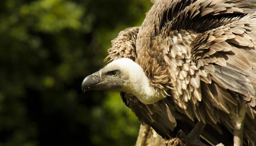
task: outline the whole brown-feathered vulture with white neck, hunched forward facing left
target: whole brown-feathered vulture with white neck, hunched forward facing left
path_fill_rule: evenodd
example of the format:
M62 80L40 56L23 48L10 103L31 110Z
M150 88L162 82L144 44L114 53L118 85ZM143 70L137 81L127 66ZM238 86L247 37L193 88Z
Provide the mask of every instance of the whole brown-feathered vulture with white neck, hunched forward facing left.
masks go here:
M165 139L194 127L191 141L256 146L255 11L243 0L158 0L82 90L119 91Z

